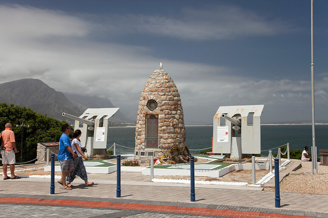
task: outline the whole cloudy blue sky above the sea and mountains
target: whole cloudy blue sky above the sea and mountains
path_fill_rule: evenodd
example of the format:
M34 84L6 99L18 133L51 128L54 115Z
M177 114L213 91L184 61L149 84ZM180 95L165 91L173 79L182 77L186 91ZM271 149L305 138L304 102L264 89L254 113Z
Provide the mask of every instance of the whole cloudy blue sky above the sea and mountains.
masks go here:
M311 120L310 2L1 1L0 74L105 97L135 119L162 62L186 124L247 104L264 104L266 123ZM328 120L327 10L314 2L318 120Z

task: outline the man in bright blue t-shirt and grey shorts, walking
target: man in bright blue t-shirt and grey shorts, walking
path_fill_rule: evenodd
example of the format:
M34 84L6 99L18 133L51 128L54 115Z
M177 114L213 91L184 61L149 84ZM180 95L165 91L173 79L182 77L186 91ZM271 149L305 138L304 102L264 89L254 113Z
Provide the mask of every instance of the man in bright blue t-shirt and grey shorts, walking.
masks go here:
M58 180L58 183L63 185L63 189L72 190L71 187L68 187L66 184L66 176L74 170L73 158L76 158L77 155L73 152L71 147L71 139L68 136L71 132L71 128L68 124L62 125L62 136L59 139L59 151L58 151L58 160L60 162L60 168L62 171L62 178Z

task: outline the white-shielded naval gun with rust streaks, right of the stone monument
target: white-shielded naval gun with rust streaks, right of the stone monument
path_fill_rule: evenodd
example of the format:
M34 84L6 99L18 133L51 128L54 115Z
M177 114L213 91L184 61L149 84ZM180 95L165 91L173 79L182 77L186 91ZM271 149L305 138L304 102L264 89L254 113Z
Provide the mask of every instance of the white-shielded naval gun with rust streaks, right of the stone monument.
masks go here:
M213 118L212 153L238 161L261 153L264 105L221 106ZM222 118L225 122L222 122Z

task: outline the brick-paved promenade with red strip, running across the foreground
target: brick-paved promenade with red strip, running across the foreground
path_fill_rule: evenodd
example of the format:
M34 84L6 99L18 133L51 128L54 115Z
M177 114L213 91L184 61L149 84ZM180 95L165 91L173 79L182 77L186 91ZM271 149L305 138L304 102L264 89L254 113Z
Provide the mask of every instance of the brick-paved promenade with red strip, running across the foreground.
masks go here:
M73 190L62 190L55 182L55 194L50 195L50 179L2 178L0 203L13 213L25 211L26 217L67 217L64 211L72 217L81 217L85 211L90 212L85 217L145 218L154 213L158 217L328 217L328 195L281 192L281 208L277 209L274 192L238 187L196 185L196 202L192 203L187 184L122 181L121 198L116 198L116 181L93 180L94 186L85 187L81 179L76 179ZM25 217L22 215L17 217Z

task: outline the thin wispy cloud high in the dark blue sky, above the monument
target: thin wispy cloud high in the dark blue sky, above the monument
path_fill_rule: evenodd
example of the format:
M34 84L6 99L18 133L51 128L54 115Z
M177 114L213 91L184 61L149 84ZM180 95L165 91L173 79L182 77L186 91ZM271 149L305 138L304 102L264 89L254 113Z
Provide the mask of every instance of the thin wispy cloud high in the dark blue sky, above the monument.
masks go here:
M297 31L290 21L270 20L237 6L183 9L178 16L110 15L105 28L184 40L220 40Z

